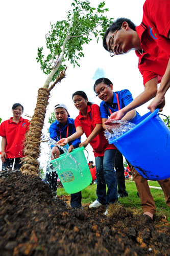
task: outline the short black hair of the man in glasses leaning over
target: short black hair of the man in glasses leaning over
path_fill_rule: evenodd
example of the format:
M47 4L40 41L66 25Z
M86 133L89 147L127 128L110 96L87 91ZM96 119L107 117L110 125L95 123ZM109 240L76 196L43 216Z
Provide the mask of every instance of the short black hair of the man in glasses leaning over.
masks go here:
M107 45L106 45L106 37L109 34L109 32L114 32L117 29L120 29L122 27L123 22L127 22L129 27L136 31L135 24L129 19L129 18L117 18L114 20L114 22L110 25L110 27L107 29L104 38L103 38L103 47L106 51L108 51Z

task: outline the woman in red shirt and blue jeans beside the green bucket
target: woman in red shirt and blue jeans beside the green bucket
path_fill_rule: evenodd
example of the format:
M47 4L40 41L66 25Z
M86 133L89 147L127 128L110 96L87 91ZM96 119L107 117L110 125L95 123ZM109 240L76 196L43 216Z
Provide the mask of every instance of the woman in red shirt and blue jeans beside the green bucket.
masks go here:
M113 204L117 199L117 181L114 170L114 158L116 147L109 144L104 136L99 106L88 101L83 91L77 91L72 95L76 108L80 111L75 119L76 133L59 141L61 145L67 144L85 133L87 139L79 146L86 147L88 143L93 148L96 165L97 199L89 205L89 208L101 205ZM106 185L108 191L106 194ZM107 215L107 210L105 211Z

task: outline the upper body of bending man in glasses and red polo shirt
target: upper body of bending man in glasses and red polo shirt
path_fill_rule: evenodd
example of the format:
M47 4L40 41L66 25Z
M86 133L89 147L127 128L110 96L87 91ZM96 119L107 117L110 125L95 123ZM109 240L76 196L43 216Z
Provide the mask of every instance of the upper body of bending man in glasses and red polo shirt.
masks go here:
M103 46L111 57L135 50L144 83L144 91L124 109L113 113L111 118L121 119L128 111L155 96L148 109L162 111L164 95L170 87L170 1L146 0L140 26L136 27L127 18L115 20L105 33Z

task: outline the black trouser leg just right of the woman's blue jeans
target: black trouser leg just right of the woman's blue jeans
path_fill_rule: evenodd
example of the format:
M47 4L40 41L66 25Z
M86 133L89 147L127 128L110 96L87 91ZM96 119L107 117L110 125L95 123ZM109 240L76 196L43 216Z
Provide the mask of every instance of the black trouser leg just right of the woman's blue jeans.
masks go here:
M124 175L124 159L123 155L117 150L115 156L115 169L116 169L116 178L118 186L118 194L128 195L125 186L125 175Z

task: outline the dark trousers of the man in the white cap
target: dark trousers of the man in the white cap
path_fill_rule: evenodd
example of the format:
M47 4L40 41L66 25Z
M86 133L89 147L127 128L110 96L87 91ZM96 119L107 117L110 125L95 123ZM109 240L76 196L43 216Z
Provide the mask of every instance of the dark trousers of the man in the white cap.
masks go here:
M53 165L46 168L46 175L45 175L45 183L50 185L51 189L54 191L55 195L57 194L57 178L58 175L56 171L53 169ZM71 207L81 207L81 200L82 200L82 193L79 191L75 194L70 194L70 205Z

